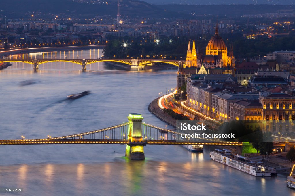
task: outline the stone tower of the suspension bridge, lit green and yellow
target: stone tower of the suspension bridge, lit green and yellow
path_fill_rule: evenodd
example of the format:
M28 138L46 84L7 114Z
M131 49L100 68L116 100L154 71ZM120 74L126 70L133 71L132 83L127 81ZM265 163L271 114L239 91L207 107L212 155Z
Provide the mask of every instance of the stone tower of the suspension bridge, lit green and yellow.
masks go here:
M146 142L142 140L142 120L141 114L130 113L128 120L131 123L128 129L129 144L126 146L125 157L133 160L144 160L145 153L143 147Z

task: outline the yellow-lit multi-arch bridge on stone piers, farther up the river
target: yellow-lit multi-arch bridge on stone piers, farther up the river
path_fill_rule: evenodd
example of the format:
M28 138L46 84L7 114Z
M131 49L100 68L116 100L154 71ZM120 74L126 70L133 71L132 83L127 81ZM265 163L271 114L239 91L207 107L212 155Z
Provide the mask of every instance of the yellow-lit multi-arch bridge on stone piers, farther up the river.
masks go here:
M38 69L40 64L48 62L71 62L82 65L82 69L96 62L117 62L130 65L131 70L145 69L146 65L153 63L167 63L179 67L183 61L166 60L166 59L0 59L0 63L4 62L23 62L34 65L34 69Z

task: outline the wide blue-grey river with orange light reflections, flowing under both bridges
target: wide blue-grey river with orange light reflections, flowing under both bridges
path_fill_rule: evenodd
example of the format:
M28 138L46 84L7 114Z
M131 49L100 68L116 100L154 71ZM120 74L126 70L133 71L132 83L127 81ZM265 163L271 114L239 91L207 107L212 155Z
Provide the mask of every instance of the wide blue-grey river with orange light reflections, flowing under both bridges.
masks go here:
M90 51L73 55L79 54L89 57ZM80 65L52 62L34 72L32 65L14 63L0 71L0 139L86 132L126 122L128 113L141 113L144 122L164 128L148 104L175 86L176 69L131 72L95 63L82 72ZM85 90L92 93L65 100ZM125 148L0 146L0 187L24 188L16 195L295 195L285 176L253 177L224 166L210 160L210 147L191 153L181 146L149 145L143 161L127 160Z

